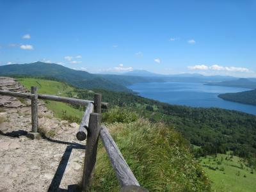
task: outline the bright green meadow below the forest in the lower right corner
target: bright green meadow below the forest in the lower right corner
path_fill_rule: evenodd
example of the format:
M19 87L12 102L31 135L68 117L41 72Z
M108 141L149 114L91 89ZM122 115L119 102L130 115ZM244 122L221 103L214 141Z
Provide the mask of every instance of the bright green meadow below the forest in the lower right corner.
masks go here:
M218 161L221 161L218 164ZM200 164L204 167L204 171L212 180L212 189L216 191L255 191L256 188L256 173L250 173L251 170L242 161L241 158L233 156L232 158L226 154L218 154L217 157L207 156L200 158ZM243 168L241 168L243 164ZM212 170L212 168L218 167L218 170ZM224 170L220 170L224 168ZM246 175L246 177L244 177Z

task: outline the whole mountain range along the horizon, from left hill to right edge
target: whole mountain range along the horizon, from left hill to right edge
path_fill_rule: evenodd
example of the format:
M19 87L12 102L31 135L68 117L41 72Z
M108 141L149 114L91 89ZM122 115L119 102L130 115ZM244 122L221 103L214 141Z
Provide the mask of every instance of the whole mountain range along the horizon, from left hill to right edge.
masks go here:
M82 70L73 70L62 65L43 62L3 65L0 66L0 76L42 77L58 81L66 81L78 88L100 88L116 92L132 92L127 88L127 85L134 83L167 81L256 88L255 78L241 80L237 77L203 76L201 74L163 75L148 72L147 70L133 70L122 75L90 74Z

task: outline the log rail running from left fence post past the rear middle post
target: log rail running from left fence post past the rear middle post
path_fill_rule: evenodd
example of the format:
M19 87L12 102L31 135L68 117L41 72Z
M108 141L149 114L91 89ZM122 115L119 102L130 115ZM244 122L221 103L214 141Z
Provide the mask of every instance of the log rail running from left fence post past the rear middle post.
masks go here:
M55 100L60 102L67 102L70 104L79 104L83 106L87 105L90 102L93 102L93 100L83 100L83 99L75 99L75 98L60 97L56 95L45 95L45 94L38 94L38 99ZM108 103L102 102L101 106L102 108L108 108Z

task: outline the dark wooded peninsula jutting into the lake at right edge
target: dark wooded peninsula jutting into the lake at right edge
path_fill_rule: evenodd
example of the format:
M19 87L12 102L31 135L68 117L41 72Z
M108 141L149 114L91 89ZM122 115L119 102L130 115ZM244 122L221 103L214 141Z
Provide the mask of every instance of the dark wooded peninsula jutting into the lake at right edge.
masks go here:
M239 93L224 93L224 94L218 95L218 97L224 100L256 105L256 90L239 92Z

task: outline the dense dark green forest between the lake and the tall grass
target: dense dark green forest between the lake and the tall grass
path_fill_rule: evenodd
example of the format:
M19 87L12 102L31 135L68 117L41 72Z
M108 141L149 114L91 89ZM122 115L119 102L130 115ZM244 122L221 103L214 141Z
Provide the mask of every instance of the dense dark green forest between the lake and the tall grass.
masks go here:
M131 93L102 93L110 107L136 111L151 122L174 125L193 145L201 146L199 155L225 153L233 150L241 157L256 154L256 116L219 108L191 108L146 99ZM76 90L77 97L92 99L93 92ZM71 93L70 93L71 94Z

